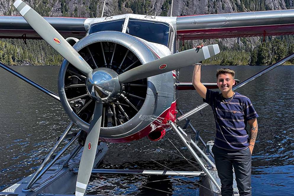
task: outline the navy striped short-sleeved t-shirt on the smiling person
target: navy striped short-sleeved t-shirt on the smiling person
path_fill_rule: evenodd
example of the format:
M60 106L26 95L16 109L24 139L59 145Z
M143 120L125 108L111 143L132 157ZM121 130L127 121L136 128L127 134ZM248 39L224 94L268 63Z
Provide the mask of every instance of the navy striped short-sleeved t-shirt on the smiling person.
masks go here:
M203 101L211 106L214 114L216 124L214 145L225 150L248 148L247 121L258 117L250 99L237 92L233 98L223 98L222 93L207 89L206 99Z

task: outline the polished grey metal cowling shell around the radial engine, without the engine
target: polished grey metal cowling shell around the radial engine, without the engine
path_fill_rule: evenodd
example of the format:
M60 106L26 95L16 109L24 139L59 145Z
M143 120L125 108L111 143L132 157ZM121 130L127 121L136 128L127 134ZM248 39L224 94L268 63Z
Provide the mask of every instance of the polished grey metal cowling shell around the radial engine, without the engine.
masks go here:
M102 31L93 33L77 42L74 48L80 51L92 43L110 41L127 47L140 60L142 64L157 59L155 54L137 38L115 31ZM59 96L62 106L75 124L80 125L83 130L89 129L89 124L80 119L70 107L65 94L64 79L68 62L63 61L59 72ZM101 127L100 136L103 138L124 138L142 130L153 122L164 110L171 106L174 101L174 80L172 72L148 77L147 95L139 112L129 121L116 127ZM155 129L156 127L154 127Z

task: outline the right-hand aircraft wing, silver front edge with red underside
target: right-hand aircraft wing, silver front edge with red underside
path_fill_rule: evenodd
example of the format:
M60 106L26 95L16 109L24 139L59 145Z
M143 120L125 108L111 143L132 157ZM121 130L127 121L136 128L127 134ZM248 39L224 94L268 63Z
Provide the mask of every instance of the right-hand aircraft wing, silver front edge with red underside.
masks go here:
M294 9L179 16L180 40L294 34Z

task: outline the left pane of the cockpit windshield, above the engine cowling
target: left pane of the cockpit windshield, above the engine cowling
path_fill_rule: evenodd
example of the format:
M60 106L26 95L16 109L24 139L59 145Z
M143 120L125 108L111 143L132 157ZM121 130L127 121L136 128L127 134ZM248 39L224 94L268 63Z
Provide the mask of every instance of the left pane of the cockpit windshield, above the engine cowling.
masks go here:
M125 23L125 19L121 20L112 20L107 22L99 22L96 24L93 24L89 28L89 35L91 33L96 33L99 31L120 31L122 32L122 27Z

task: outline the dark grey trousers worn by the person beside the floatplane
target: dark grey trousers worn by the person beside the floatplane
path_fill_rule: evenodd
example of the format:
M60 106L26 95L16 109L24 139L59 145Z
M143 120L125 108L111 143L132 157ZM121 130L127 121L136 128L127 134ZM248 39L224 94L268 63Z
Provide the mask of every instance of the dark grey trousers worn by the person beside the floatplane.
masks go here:
M223 150L212 147L215 166L221 181L222 196L233 195L233 167L240 196L251 196L251 153L250 149L241 151Z

